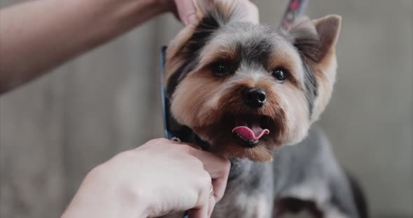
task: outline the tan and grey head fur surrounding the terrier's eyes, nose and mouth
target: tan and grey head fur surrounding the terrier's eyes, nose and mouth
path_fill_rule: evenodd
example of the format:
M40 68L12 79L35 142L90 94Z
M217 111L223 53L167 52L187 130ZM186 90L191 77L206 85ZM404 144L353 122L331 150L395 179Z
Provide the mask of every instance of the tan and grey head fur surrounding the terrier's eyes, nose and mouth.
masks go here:
M235 0L216 0L198 8L199 22L183 29L168 46L167 96L174 118L207 141L212 151L269 161L275 147L300 142L328 103L341 18L304 17L283 32L248 22L242 7ZM217 63L225 63L230 73L214 74ZM272 76L276 68L286 71L285 81ZM261 108L244 103L241 93L248 87L265 90ZM269 134L255 147L243 147L232 133L239 119L256 119Z

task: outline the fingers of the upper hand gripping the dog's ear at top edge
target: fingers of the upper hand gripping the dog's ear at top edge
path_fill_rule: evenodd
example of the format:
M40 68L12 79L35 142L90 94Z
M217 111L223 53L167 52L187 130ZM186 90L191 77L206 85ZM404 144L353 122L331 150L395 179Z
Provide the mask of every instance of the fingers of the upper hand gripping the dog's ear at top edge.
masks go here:
M195 1L214 1L214 0L158 0L160 5L166 10L171 11L185 25L193 24L197 21ZM228 0L226 0L228 1ZM258 8L248 0L232 0L245 4L247 8L248 21L258 23Z

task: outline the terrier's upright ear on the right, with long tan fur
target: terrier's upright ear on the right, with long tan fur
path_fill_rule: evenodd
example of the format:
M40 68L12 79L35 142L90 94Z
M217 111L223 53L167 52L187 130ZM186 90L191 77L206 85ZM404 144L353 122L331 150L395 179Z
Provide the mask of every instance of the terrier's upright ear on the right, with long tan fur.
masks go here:
M316 79L317 94L311 122L318 119L332 94L337 70L335 45L340 26L339 15L327 15L312 21L304 18L295 22L288 33Z

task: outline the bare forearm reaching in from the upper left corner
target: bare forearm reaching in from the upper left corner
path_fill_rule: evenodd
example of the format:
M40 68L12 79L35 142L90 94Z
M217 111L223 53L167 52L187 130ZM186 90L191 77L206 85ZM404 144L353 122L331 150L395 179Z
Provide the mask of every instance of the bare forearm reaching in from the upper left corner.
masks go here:
M37 0L0 13L0 93L166 10L156 0Z

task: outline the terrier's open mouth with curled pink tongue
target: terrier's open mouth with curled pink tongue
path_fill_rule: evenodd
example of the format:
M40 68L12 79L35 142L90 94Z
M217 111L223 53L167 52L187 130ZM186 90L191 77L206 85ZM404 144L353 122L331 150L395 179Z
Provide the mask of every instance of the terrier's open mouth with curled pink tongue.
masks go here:
M258 145L260 139L270 133L274 121L263 115L234 115L231 133L242 147L251 148Z

